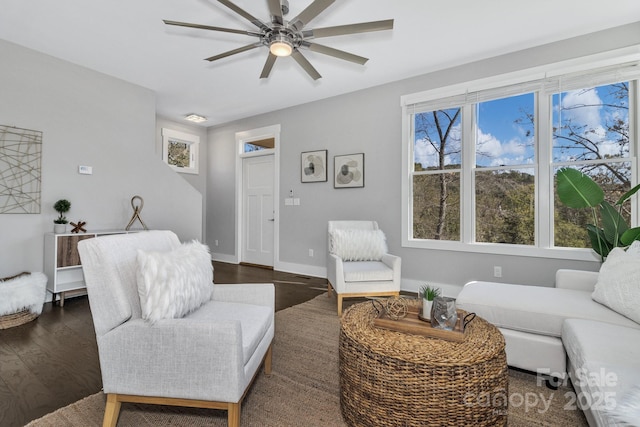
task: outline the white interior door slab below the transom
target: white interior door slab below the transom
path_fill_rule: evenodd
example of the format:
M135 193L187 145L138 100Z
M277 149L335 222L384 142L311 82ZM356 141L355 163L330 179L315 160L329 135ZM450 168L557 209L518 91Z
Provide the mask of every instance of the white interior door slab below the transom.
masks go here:
M273 155L242 161L242 262L273 267Z

